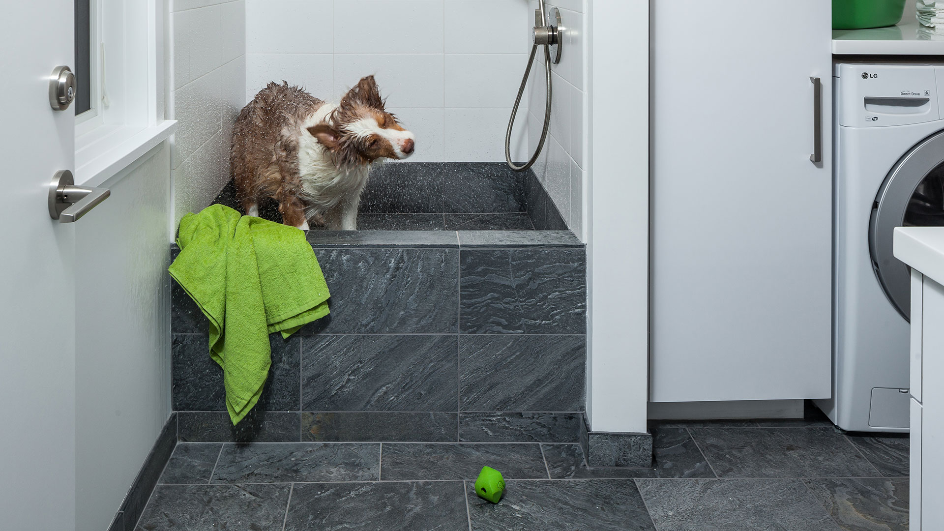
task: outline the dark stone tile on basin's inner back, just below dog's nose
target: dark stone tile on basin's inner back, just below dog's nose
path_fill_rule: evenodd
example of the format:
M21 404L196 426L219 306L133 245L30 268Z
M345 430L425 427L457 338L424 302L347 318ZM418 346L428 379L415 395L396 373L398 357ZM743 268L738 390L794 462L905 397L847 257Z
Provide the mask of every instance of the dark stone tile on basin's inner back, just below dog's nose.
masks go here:
M375 165L361 197L361 212L440 213L443 163Z

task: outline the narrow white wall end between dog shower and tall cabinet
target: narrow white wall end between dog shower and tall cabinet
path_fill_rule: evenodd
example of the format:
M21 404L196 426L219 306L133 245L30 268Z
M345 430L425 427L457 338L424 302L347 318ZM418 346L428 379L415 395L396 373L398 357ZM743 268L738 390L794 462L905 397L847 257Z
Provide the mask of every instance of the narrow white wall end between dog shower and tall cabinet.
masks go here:
M646 431L649 394L649 1L592 0L587 408Z

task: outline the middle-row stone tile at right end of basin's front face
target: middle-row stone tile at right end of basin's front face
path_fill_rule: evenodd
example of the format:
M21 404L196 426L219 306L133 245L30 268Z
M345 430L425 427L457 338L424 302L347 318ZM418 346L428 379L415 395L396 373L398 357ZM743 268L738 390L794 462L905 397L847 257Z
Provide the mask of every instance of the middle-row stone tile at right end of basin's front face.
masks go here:
M463 335L460 411L583 411L582 335Z

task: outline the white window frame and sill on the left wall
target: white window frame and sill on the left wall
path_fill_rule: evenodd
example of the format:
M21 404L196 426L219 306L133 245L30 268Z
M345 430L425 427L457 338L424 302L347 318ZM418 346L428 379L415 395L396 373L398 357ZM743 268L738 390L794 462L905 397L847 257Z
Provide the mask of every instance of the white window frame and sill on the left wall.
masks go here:
M93 100L76 116L75 174L76 184L97 186L177 122L164 119L164 0L92 0L89 8Z

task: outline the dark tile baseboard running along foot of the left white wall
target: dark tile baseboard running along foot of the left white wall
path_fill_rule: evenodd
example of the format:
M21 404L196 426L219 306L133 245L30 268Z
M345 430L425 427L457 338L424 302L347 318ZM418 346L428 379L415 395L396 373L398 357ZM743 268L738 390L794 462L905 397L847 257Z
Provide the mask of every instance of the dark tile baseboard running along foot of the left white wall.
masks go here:
M121 508L115 513L111 521L109 531L132 531L138 525L138 519L144 511L144 505L151 497L151 492L158 484L160 473L174 453L174 447L177 445L177 412L172 412L171 416L160 429L158 440L151 447L151 451L144 458L144 464L138 475L134 478L131 488L127 489L125 500L122 501Z

